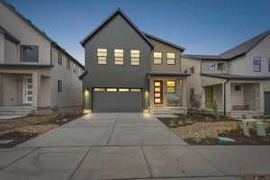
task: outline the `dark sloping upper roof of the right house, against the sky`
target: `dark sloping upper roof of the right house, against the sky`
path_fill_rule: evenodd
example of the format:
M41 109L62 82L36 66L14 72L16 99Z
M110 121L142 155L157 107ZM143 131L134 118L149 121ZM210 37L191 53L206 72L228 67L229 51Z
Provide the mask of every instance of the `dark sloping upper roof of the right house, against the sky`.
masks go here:
M254 48L261 40L264 40L266 36L269 34L270 34L270 30L265 31L257 35L256 37L239 44L235 48L226 50L225 52L221 53L220 56L223 58L228 58L228 59L241 56L247 53L248 50Z

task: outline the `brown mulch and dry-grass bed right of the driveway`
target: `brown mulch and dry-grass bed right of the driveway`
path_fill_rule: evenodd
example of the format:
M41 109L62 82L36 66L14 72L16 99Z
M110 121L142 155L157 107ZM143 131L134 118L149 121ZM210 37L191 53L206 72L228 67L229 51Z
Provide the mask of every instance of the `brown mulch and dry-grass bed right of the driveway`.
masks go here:
M194 125L197 127L201 127L200 123L197 124L197 122L203 122L207 123L208 125L214 124L211 122L225 122L226 121L238 121L237 119L229 119L225 116L221 116L219 119L217 119L215 116L211 114L193 114L193 115L178 115L178 123L174 124L172 123L173 118L159 118L160 121L164 122L166 126L175 131L175 133L179 136L186 136L191 127ZM195 124L196 123L196 124ZM188 128L188 129L187 129ZM204 127L205 128L205 127ZM178 130L178 131L177 131ZM182 130L179 132L179 130ZM184 130L184 132L183 132ZM188 130L188 131L186 131ZM205 129L207 131L207 128ZM216 135L219 137L228 137L230 139L235 139L236 142L222 142L222 145L270 145L270 137L258 137L257 132L254 129L249 130L249 133L251 137L247 137L243 134L242 130L225 130L226 132L218 130ZM196 132L194 132L196 133ZM270 129L266 129L266 133L270 133ZM183 137L182 137L183 138ZM184 140L191 145L220 145L219 139L215 137L209 137L209 138L189 138L189 136L186 136Z

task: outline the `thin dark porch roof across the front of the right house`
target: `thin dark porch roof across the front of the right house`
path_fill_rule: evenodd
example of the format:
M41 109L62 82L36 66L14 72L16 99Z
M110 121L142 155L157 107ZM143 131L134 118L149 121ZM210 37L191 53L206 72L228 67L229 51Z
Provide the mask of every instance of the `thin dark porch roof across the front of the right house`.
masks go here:
M223 79L234 79L234 80L266 80L266 79L270 79L270 76L243 76L243 75L216 74L216 73L201 73L201 75L223 78Z

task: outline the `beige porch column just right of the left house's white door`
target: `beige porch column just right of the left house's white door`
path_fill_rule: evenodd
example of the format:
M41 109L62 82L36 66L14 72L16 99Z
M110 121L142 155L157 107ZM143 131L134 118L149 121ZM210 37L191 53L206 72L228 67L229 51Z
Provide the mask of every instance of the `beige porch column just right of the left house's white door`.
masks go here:
M33 95L32 95L32 107L39 107L40 105L40 74L39 72L35 71L31 73L32 76L32 89L33 89Z

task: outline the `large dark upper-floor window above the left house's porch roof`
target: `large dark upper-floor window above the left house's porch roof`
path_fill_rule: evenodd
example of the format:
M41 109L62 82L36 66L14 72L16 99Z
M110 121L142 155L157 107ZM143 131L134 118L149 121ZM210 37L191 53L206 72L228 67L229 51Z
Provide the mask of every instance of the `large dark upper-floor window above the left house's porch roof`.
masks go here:
M38 62L39 47L38 46L22 46L22 61L23 62Z

